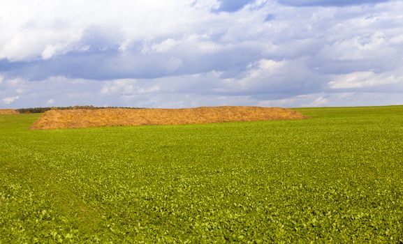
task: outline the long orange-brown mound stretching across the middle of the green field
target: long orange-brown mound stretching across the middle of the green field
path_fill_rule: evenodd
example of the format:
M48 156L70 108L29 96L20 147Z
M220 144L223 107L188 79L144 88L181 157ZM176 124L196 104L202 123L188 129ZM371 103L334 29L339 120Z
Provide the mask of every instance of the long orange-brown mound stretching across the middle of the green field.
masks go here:
M31 129L88 128L114 125L182 125L231 121L304 119L278 107L197 107L193 109L50 110Z

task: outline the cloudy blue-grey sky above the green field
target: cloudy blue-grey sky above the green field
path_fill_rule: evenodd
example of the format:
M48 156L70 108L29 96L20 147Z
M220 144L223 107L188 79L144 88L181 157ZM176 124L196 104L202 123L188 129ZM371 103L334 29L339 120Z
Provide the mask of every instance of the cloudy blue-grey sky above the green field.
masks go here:
M402 0L1 0L0 108L402 105L402 13Z

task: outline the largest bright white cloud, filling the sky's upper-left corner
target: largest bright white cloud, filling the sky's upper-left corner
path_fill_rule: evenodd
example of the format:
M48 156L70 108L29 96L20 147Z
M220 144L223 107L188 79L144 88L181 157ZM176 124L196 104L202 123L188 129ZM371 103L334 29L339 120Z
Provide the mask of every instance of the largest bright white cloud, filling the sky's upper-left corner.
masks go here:
M80 40L91 28L117 34L122 51L131 43L163 36L202 31L214 21L217 1L193 0L3 0L0 3L0 59L50 59L82 48ZM216 17L214 17L216 16ZM163 52L172 45L156 46Z

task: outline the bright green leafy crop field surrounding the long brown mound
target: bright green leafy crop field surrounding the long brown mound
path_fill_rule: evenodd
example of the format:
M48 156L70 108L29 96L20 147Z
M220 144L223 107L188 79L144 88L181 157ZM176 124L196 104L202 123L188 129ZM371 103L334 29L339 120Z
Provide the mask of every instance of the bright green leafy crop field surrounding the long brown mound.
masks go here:
M0 116L0 243L402 243L403 106L28 130Z

